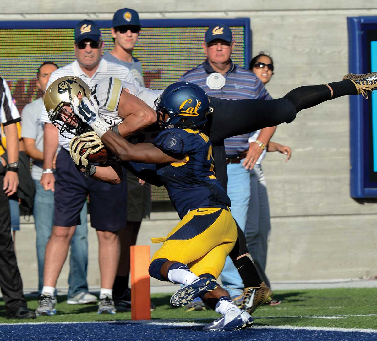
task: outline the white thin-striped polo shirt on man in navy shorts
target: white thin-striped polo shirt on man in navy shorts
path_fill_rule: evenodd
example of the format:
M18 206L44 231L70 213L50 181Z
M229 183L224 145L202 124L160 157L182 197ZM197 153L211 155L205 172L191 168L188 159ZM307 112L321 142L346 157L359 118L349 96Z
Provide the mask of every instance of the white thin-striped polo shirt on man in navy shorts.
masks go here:
M80 65L78 64L78 61L75 60L73 63L70 63L52 72L50 79L48 81L47 87L53 81L64 76L80 77L86 84L89 85L90 88L94 86L94 84L96 84L99 80L103 78L110 78L110 77L116 77L116 78L119 78L121 81L126 81L128 83L132 83L136 85L138 84L136 83L135 78L133 77L130 70L127 69L127 67L112 63L110 61L104 60L103 58L101 58L100 65L98 66L98 69L96 70L96 72L94 73L92 77L88 77L81 69ZM44 108L44 106L42 108L41 121L44 123L51 123L49 121L48 113L46 109ZM70 142L69 138L61 136L59 134L59 145L68 151L69 151L69 142Z

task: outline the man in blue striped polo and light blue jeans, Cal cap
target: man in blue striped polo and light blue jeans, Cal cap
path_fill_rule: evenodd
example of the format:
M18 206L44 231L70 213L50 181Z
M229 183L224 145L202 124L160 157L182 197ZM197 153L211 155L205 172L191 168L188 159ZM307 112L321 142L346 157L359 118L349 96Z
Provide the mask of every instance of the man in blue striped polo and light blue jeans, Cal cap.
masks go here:
M271 99L264 85L254 73L241 68L231 60L234 41L228 26L224 24L211 25L205 32L202 47L207 59L204 63L186 72L179 79L180 81L196 83L207 92L208 96L222 99ZM276 127L269 127L260 130L257 141L250 144L248 142L250 134L225 139L228 196L231 200L233 217L242 231L245 231L250 202L252 168L275 129ZM260 275L263 280L266 278L265 281L267 281L267 276ZM236 299L239 296L238 291L243 290L243 284L229 257L225 262L221 280L225 286L235 289L228 289L228 291L231 297ZM265 286L265 283L262 285ZM189 309L200 309L201 303L198 302L198 304L198 306L189 306Z

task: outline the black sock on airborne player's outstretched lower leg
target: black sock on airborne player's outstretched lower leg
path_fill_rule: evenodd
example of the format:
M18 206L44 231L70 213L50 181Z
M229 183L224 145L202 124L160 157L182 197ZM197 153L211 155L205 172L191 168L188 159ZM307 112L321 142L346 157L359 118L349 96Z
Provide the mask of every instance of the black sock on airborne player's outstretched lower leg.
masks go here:
M288 99L288 101L294 105L296 112L299 112L302 109L314 107L317 104L328 101L332 98L357 95L356 86L350 80L329 83L329 86L331 89L333 89L333 96L331 96L329 87L322 84L314 86L300 86L288 92L284 98Z

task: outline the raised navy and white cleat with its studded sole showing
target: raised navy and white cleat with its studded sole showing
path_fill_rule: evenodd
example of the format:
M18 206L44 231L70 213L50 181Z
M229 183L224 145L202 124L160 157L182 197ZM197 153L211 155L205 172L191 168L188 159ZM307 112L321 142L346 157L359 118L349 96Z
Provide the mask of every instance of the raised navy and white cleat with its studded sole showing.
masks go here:
M219 284L213 278L198 278L194 283L179 289L170 298L170 304L175 307L183 307L189 304L194 298L215 290Z

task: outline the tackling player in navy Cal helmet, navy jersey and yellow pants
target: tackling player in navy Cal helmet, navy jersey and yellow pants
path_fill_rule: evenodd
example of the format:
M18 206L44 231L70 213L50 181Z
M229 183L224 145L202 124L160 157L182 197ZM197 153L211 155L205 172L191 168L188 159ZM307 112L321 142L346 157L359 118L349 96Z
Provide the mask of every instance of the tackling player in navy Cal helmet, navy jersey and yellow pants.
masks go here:
M176 106L167 107L173 94ZM216 283L225 257L236 243L237 228L228 207L230 200L213 171L211 142L199 130L212 111L208 96L195 84L179 82L167 87L156 107L158 124L164 129L153 144L133 145L115 132L102 136L104 144L121 161L130 162L128 167L138 177L166 187L181 218L166 238L155 240L163 244L152 257L149 273L161 281L184 285L170 299L173 306L184 306L200 296L222 314L204 330L251 327L251 316L239 309ZM90 144L80 137L72 140L74 159L83 154L83 148L89 149ZM83 157L80 161L88 166ZM116 165L89 167L93 179L120 181L121 168ZM148 176L143 176L145 170L149 171Z

